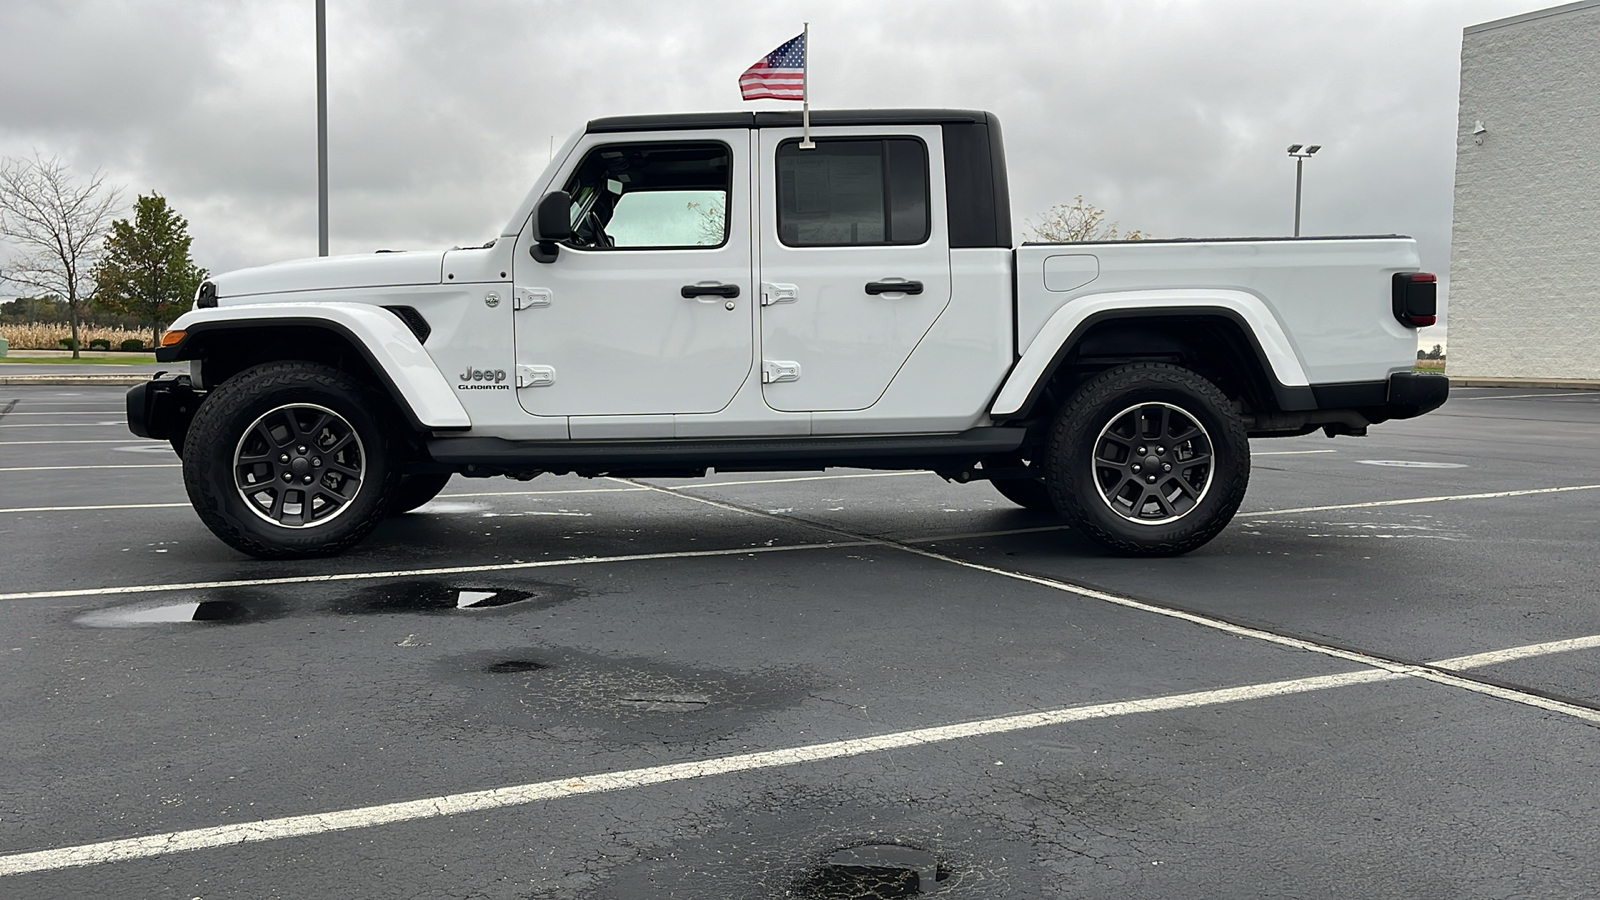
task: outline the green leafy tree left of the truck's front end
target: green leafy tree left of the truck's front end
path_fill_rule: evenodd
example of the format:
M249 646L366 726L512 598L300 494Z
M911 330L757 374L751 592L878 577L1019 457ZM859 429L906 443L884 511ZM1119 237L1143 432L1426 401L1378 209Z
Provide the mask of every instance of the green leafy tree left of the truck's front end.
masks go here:
M133 223L117 219L94 266L94 303L150 325L150 343L195 296L206 271L189 256L189 223L150 192L133 203Z

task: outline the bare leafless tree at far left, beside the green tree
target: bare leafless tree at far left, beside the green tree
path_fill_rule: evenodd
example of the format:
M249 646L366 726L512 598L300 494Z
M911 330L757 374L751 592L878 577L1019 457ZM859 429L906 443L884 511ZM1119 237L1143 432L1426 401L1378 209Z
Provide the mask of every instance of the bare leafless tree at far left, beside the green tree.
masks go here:
M67 301L74 359L78 322L94 293L94 263L120 197L99 170L78 184L59 157L0 160L0 237L18 248L0 282Z

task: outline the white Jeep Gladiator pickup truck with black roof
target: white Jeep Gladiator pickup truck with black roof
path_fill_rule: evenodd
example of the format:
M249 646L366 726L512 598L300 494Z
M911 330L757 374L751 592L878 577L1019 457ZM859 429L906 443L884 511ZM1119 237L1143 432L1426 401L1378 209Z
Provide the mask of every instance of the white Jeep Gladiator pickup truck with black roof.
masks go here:
M1238 509L1250 437L1365 434L1413 373L1408 237L1011 243L970 110L597 119L501 235L213 277L128 392L195 511L333 554L453 474L854 466L989 480L1122 554Z

